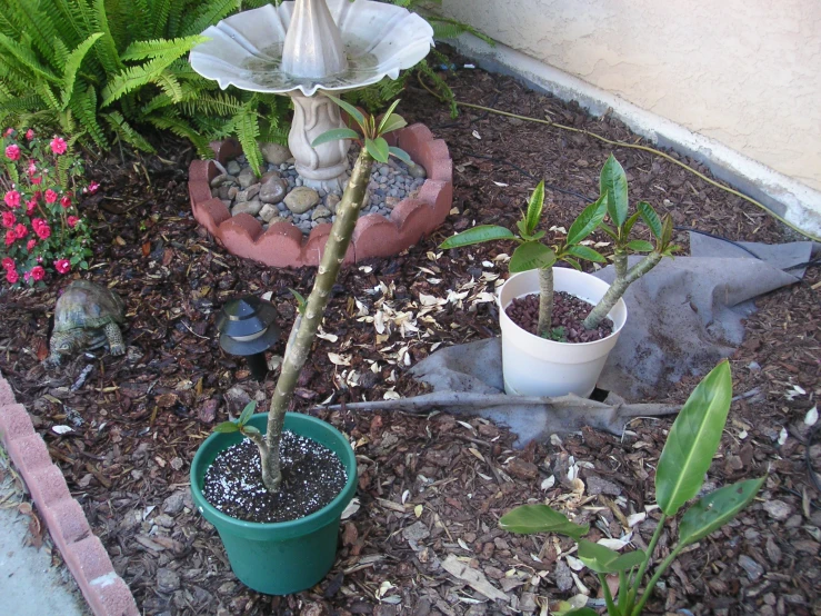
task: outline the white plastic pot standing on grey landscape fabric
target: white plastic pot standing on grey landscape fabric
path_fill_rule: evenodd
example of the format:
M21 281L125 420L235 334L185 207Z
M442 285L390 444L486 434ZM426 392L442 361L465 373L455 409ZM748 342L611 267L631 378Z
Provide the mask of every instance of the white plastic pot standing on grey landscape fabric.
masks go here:
M568 268L553 268L553 289L595 305L609 285L598 278ZM504 391L515 396L564 396L587 398L593 393L608 354L624 327L628 309L620 299L608 316L613 332L594 342L557 342L524 331L504 312L515 298L539 294L539 271L533 269L511 276L499 292L499 319L502 329L502 371Z

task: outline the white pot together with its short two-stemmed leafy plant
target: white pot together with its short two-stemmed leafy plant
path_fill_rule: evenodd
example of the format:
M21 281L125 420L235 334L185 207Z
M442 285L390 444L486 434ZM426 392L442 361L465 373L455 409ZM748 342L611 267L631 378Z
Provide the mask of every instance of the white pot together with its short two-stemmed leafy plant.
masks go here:
M644 201L638 203L634 213L629 213L627 176L612 155L601 170L599 198L584 208L563 237L554 237L550 246L541 241L547 232L538 229L543 205L542 181L517 223L518 235L504 227L481 225L448 238L441 248L500 239L519 244L509 264L514 276L499 292L504 389L522 396L587 397L593 391L627 321L621 296L630 284L678 248L671 244L672 220L669 216L660 219ZM609 223L604 222L605 218ZM650 228L654 244L631 239L639 218ZM581 271L580 260L607 260L588 246L592 242L587 238L597 229L612 239L611 259L615 268L612 285ZM645 252L645 256L630 266L631 252ZM559 261L573 269L554 267ZM567 294L562 296L562 315L554 310L558 291ZM527 299L535 294L538 300ZM572 298L583 300L583 308ZM582 311L583 317L577 316ZM605 324L607 317L612 325Z

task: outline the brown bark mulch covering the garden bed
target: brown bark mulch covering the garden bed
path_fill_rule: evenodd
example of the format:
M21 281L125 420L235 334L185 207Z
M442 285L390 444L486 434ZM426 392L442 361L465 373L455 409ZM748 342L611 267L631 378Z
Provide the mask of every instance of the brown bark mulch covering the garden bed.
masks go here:
M445 78L460 100L642 142L611 118L590 118L507 77L464 69ZM483 111L463 109L451 119L415 83L403 99L401 112L450 147L454 210L409 251L342 272L299 381L297 410L414 395L409 366L437 347L495 335L491 294L507 276L500 255L510 247L437 246L474 221L511 225L541 178L545 227L569 226L583 197L598 192L611 151L583 135ZM214 245L189 210L191 150L176 141L160 148L160 156L91 165L103 188L84 206L97 227L88 277L113 285L127 302L124 357L78 357L47 372L39 360L67 280L0 297L0 369L146 614L513 614L540 613L545 602L585 590L594 597L595 577L567 557L570 542L498 528L502 514L529 500L547 499L589 521L593 539L632 530L633 545L645 547L658 517L654 466L672 419L634 420L623 438L587 429L514 450L504 429L479 419L311 411L351 436L360 465L359 509L343 523L338 562L316 588L290 597L240 585L216 531L192 508L188 469L213 426L249 398L264 404L272 382L258 386L241 360L219 350L214 314L242 294L271 291L290 327L288 289L307 295L313 271L272 270ZM657 205L680 227L732 240L795 239L764 211L661 158L624 148L615 155L631 200ZM821 471L821 438L804 424L821 391L820 279L811 267L807 284L762 298L731 358L735 393L744 397L733 405L707 483L769 474L760 497L681 556L647 613L821 614L821 508L808 476L808 460ZM283 344L272 351L281 355ZM698 380L658 391L657 400L681 403ZM54 426L72 430L57 434ZM628 517L642 513L647 519L629 528ZM670 535L660 545L667 554ZM448 573L445 560L458 570L453 557L507 600L490 600Z

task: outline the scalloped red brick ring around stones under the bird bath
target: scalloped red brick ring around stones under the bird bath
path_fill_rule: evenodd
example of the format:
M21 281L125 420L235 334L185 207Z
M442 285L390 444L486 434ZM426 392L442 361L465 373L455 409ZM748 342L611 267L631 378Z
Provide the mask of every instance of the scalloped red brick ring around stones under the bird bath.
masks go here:
M390 257L410 248L444 222L453 202L453 162L448 146L424 125L417 123L388 136L424 167L428 179L415 198L402 199L390 218L379 213L357 222L347 264L371 257ZM211 143L217 160L226 165L242 153L236 139ZM226 205L211 198L210 181L219 173L211 160L194 160L189 167L188 192L197 221L229 252L271 267L318 266L331 225L319 225L306 238L291 222L277 222L268 230L250 215L231 216Z

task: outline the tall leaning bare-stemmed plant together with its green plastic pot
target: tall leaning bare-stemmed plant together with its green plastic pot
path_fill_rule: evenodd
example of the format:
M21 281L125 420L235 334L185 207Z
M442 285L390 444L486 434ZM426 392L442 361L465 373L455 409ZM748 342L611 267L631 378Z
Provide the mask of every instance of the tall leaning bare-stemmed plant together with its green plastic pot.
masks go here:
M337 552L337 535L342 510L350 503L357 486L357 460L348 439L332 426L313 417L297 413L287 413L297 386L297 379L308 358L311 345L322 320L330 298L331 287L337 280L340 266L351 240L359 210L366 197L371 166L374 160L387 162L389 156L404 161L410 158L398 148L389 147L383 135L406 126L404 120L393 113L394 102L388 111L376 119L366 116L357 108L331 98L342 107L361 129L362 149L357 158L351 178L337 206L337 220L333 223L317 278L308 300L298 294L299 314L294 321L284 360L268 414L253 415L253 405L246 407L236 421L226 421L217 426L214 434L200 446L191 465L191 491L193 500L202 515L217 530L226 546L231 568L237 577L247 586L260 593L284 595L303 590L321 580L333 565ZM313 145L333 139L359 139L360 135L350 128L334 129L318 137ZM283 430L287 430L283 433ZM296 435L291 436L289 435ZM246 441L243 437L249 440ZM298 519L284 521L249 521L250 516L261 517L261 508L280 506L279 513L293 514L292 493L298 481L289 481L289 464L291 468L296 459L308 455L302 450L306 437L310 446L319 451L318 457L331 459L329 451L337 457L337 467L329 463L329 474L334 471L338 494L330 495L330 500L317 506L313 494L309 493L303 500L306 515ZM283 438L297 441L299 455L289 453ZM240 457L239 448L244 443L252 443L250 457ZM318 447L321 446L321 447ZM291 450L294 447L291 446ZM248 456L248 451L244 453ZM241 461L238 461L241 460ZM304 466L304 465L303 465ZM256 468L251 468L256 467ZM343 469L339 480L340 467ZM239 478L229 478L234 471ZM214 477L206 481L209 473ZM234 483L231 483L234 481ZM249 485L253 483L253 485ZM320 487L333 483L326 476ZM237 485L248 487L247 490ZM327 491L327 490L326 490ZM207 496L222 503L223 509L230 509L233 501L236 509L241 509L242 517L220 510ZM254 497L252 499L252 497ZM259 498L256 498L259 497ZM237 501L239 507L237 507ZM260 505L260 501L263 504ZM247 505L246 505L247 504ZM282 509L289 509L286 514ZM296 515L296 514L293 514Z

